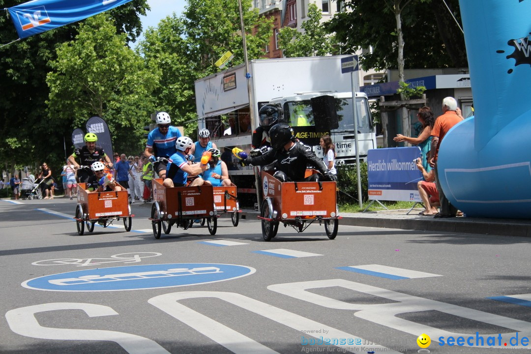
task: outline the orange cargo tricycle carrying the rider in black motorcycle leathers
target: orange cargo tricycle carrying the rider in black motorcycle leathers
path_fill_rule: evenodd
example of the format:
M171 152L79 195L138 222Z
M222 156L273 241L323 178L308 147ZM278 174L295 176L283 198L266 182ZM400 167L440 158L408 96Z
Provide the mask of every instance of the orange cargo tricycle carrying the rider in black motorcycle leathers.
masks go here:
M318 171L307 169L305 177ZM329 239L335 239L339 217L336 182L280 182L273 171L260 172L263 201L260 209L265 241L277 235L280 223L303 232L314 222L324 223Z

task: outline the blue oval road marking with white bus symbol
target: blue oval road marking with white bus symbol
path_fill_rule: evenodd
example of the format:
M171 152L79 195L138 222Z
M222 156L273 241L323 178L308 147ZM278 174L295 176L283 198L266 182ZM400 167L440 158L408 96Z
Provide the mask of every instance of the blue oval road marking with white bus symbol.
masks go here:
M213 283L245 277L251 267L217 263L130 265L46 275L22 283L51 291L116 291L158 289Z

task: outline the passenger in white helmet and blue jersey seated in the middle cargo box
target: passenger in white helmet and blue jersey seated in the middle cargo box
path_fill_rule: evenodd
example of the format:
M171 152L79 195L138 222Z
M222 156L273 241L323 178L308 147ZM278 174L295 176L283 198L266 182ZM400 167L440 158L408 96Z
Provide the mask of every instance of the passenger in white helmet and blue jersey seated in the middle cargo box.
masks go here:
M180 136L175 143L176 152L169 158L168 167L166 170L166 179L162 184L165 187L185 187L188 176L196 176L201 174L208 168L201 162L189 164L186 155L190 153L192 148L192 139L187 136ZM200 177L195 178L190 186L201 186L204 180Z

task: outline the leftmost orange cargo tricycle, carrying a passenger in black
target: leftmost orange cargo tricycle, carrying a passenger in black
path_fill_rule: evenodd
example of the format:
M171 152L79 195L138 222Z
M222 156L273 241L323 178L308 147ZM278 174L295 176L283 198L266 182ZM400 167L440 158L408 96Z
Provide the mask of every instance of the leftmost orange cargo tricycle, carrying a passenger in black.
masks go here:
M124 222L125 231L131 231L131 206L126 189L116 192L90 192L86 183L78 183L78 205L75 208L75 221L78 234L83 235L85 226L92 232L98 223L106 228L113 221Z

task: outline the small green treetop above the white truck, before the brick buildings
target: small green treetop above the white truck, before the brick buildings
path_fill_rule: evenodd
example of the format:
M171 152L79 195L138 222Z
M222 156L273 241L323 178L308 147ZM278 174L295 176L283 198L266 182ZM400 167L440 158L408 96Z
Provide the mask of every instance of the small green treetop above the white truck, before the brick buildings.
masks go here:
M279 31L279 48L287 58L338 54L334 38L321 24L322 14L317 5L308 6L308 19L301 24L304 32L284 27Z

